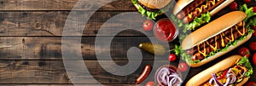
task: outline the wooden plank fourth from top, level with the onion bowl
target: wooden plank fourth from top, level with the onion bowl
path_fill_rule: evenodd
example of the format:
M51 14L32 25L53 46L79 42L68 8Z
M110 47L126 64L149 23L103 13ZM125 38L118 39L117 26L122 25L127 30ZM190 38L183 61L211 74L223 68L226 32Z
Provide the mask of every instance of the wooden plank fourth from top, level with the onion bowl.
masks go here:
M124 66L127 64L128 60L113 60L119 66ZM87 66L88 72L81 71L84 68L84 62ZM110 62L110 60L101 60L102 63ZM117 76L110 72L106 72L97 60L73 60L68 66L75 66L72 69L67 69L72 71L69 76L65 71L62 60L1 60L0 61L0 83L71 83L70 81L75 81L75 83L86 83L86 84L96 84L92 82L91 76L94 77L98 83L105 84L135 84L136 78L146 65L154 66L148 78L143 82L154 81L155 71L163 65L166 65L166 60L144 60L142 64L137 68L135 72L127 76ZM171 63L177 66L177 63ZM205 68L212 66L207 65L203 67L190 68L189 75L183 77L184 82L187 82L190 77L203 71ZM119 70L112 65L108 65L106 68L112 70ZM126 71L126 70L123 70ZM253 71L256 71L256 66L253 66ZM91 74L88 75L88 74ZM255 82L256 73L249 81Z

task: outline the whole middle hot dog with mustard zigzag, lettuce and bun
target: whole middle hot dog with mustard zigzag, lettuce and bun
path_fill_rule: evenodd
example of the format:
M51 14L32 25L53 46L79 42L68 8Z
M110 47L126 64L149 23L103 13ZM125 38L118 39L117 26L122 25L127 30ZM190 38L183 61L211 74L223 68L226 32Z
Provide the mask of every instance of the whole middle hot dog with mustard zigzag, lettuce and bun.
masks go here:
M252 37L252 30L244 21L246 17L241 11L233 11L190 33L181 44L186 52L183 60L189 66L201 66L245 43Z

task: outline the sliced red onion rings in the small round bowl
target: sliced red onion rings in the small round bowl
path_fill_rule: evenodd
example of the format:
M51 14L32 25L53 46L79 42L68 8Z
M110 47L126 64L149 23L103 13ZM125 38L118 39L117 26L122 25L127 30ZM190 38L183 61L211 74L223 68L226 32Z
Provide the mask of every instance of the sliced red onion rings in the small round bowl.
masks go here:
M160 85L172 86L174 83L177 83L177 85L183 83L177 72L168 67L161 68L156 78Z

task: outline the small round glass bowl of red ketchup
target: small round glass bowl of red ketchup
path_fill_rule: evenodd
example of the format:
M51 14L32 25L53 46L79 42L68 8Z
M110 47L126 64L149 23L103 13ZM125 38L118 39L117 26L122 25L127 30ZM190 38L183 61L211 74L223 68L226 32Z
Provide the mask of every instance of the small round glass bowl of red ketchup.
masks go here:
M158 20L154 25L154 36L163 42L172 42L177 37L176 26L168 18Z

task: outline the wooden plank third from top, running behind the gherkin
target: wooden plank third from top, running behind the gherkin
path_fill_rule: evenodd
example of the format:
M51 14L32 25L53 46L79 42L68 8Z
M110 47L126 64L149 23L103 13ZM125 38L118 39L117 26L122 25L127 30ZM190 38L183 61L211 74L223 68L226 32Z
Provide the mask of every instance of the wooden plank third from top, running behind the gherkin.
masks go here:
M62 60L61 50L69 50L70 47L79 49L82 53L75 52L75 55L82 54L84 60L96 60L96 37L83 37L81 46L76 42L79 37L68 37L61 41L61 37L0 37L0 60ZM102 37L102 42L107 42L111 37ZM153 38L154 40L157 40ZM63 44L61 44L61 42ZM150 42L148 37L114 37L110 46L110 54L113 60L128 60L127 52L139 43ZM158 42L160 43L160 42ZM63 45L63 49L61 48ZM171 46L172 43L171 43ZM99 45L102 47L102 45ZM97 49L99 54L108 54L108 49ZM142 50L143 60L154 60L153 54ZM155 60L166 60L165 56L156 56ZM76 59L74 59L76 60ZM103 60L111 60L103 58ZM131 57L131 60L138 60Z

